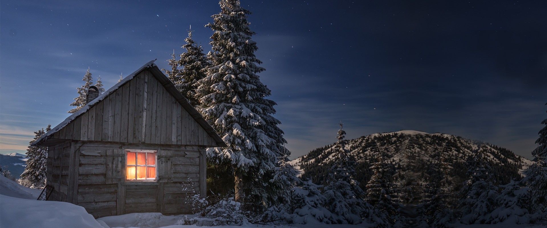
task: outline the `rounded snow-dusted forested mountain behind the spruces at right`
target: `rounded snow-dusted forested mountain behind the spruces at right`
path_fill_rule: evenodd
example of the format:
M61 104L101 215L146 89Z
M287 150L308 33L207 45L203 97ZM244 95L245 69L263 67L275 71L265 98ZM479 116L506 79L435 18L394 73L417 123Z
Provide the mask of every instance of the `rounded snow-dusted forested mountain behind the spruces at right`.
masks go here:
M346 140L346 149L350 150L357 160L357 174L354 178L360 182L363 189L372 176L370 166L373 162L373 151L385 151L387 158L393 159L397 167L397 176L394 178L396 188L406 189L409 184L425 184L427 163L432 159L433 153L440 150L448 155L445 162L449 162L452 167L449 174L450 191L455 193L462 187L464 180L468 179L465 176L468 170L465 161L473 150L479 147L487 151L496 184L509 183L513 178L521 179L519 171L531 163L508 149L444 133L404 130ZM316 184L325 184L333 163L332 152L335 148L336 144L317 148L291 163L300 169L302 179L310 178Z

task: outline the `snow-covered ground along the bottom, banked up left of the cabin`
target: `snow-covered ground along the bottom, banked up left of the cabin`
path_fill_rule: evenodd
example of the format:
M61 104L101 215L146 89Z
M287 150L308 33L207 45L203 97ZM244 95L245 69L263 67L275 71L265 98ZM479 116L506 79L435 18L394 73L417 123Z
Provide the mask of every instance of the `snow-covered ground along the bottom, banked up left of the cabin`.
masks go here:
M160 213L132 213L94 219L83 207L58 201L38 201L40 190L29 189L0 175L0 227L2 228L191 228L196 225L178 225L183 215ZM222 226L222 228L366 228L369 224L327 225L254 225ZM461 225L458 228L540 228L545 226L496 224Z

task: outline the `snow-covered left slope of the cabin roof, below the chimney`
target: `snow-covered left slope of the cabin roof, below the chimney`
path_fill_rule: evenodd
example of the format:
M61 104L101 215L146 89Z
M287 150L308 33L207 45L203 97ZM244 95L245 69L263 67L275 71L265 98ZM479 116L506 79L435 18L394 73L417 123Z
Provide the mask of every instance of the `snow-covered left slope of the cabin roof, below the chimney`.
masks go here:
M114 86L110 87L110 89L108 89L106 92L102 93L101 95L99 95L97 98L95 98L93 101L90 101L89 103L87 103L84 107L80 108L80 110L78 110L78 112L75 112L73 113L72 115L68 116L65 121L62 121L61 124L51 128L50 131L48 131L47 133L45 133L42 137L36 139L36 141L34 141L34 143L32 143L31 145L36 145L40 142L42 142L46 137L50 136L50 135L53 135L53 133L61 130L61 128L67 126L70 122L72 122L72 120L75 120L78 116L84 114L85 112L87 112L89 110L89 108L91 108L91 106L93 106L94 104L96 104L97 102L100 102L104 99L104 97L108 96L110 93L113 93L115 90L119 89L119 87L121 87L122 85L124 85L125 83L127 83L127 81L133 79L133 77L135 77L135 75L137 75L138 73L141 73L141 71L143 69L146 69L146 68L149 68L149 67L157 67L157 65L154 63L156 60L152 60L150 62L147 62L145 65L143 65L141 68L138 68L135 72L131 73L130 75L127 75L123 80L121 80L119 83L115 84Z

